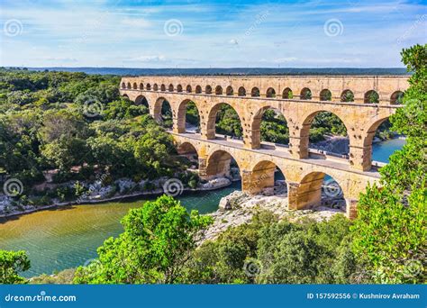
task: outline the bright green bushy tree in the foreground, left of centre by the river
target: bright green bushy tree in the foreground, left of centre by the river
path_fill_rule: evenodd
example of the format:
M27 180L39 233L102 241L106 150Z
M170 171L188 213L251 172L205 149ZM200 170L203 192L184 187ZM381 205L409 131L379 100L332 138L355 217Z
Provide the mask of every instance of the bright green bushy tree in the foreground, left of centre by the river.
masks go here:
M99 258L87 267L78 267L77 284L173 284L196 247L204 229L212 223L163 195L122 220L124 231L104 241Z

